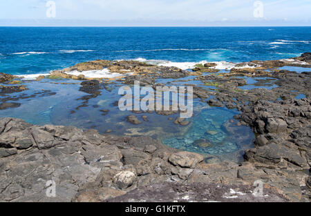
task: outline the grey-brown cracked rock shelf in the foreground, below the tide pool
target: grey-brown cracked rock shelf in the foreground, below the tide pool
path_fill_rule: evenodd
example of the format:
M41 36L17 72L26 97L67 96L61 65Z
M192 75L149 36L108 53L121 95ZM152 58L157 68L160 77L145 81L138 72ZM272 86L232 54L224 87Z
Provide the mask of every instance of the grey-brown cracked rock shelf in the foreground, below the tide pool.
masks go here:
M33 126L12 118L0 119L0 131L2 202L308 201L304 173L256 168L252 162L205 164L201 155L149 137ZM258 179L268 196L249 192Z

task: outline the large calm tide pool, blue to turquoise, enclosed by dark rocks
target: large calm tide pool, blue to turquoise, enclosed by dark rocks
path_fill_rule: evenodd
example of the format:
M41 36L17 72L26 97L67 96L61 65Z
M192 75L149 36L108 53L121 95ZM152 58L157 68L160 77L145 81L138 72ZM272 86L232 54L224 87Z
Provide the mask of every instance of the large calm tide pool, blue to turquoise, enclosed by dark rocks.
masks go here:
M79 83L50 79L26 81L23 85L28 90L0 96L3 99L23 95L23 99L12 100L21 106L0 110L0 117L17 117L39 125L93 128L101 133L112 130L115 135L149 136L173 148L233 161L240 161L243 150L252 147L254 133L245 126L236 126L233 119L238 114L236 110L211 108L206 102L194 99L194 117L185 119L190 121L188 126L180 126L173 123L176 117L180 117L178 113L158 115L156 112L120 111L117 106L122 97L118 95L120 84L106 85L100 95L85 101L81 97L88 94L79 91ZM189 84L188 81L181 82L184 83ZM53 94L44 94L44 90ZM127 122L129 115L136 115L142 123L133 125ZM144 115L147 121L142 118Z

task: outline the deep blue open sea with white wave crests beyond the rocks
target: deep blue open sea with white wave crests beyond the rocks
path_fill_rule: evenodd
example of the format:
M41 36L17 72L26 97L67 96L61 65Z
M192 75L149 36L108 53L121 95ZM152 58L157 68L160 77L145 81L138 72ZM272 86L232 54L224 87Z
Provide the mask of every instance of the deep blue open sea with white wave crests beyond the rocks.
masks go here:
M0 28L0 72L46 73L95 59L283 59L310 51L310 27Z

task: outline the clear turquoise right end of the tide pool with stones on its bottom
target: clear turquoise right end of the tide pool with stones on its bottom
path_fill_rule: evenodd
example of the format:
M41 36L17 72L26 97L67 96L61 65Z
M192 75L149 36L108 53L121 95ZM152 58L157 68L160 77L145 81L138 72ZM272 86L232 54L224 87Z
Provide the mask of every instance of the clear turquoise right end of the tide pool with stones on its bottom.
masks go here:
M236 125L233 120L236 114L235 110L206 107L194 117L191 127L184 134L162 141L181 150L228 157L239 150L251 148L254 139L250 128Z

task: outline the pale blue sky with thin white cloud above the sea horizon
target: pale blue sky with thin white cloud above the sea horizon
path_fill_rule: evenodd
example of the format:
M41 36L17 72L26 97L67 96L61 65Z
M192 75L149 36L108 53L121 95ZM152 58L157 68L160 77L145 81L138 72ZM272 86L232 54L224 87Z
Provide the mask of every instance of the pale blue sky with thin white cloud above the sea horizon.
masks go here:
M311 0L0 0L0 26L311 26Z

